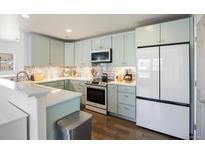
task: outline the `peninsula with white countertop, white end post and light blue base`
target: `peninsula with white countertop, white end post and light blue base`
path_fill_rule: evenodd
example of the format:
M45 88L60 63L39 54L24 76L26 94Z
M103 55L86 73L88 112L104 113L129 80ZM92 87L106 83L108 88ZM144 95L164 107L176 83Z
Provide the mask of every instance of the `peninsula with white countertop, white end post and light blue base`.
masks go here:
M57 139L56 121L80 110L80 93L0 78L1 100L28 115L28 139Z

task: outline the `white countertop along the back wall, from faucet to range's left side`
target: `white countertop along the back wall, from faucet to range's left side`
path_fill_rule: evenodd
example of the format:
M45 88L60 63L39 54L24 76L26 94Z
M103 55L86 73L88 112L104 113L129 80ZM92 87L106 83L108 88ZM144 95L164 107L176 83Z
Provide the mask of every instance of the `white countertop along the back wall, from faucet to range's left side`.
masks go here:
M44 79L42 81L29 81L31 83L46 83L46 82L54 82L54 81L62 81L62 80L77 80L77 81L89 81L91 80L90 78L85 78L85 77L57 77L57 78L52 78L52 79Z

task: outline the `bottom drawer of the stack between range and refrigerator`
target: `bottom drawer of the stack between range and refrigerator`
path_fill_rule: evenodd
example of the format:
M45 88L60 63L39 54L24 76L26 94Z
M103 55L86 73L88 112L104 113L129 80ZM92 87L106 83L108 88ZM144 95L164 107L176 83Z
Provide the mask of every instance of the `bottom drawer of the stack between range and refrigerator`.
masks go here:
M135 107L118 104L118 114L135 119Z

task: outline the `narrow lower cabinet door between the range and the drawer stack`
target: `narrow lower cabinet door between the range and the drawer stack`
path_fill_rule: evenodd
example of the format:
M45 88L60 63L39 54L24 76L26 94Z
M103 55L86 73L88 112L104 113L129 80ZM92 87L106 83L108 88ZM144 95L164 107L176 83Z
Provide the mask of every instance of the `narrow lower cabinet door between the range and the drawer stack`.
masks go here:
M117 113L117 85L108 85L108 111Z

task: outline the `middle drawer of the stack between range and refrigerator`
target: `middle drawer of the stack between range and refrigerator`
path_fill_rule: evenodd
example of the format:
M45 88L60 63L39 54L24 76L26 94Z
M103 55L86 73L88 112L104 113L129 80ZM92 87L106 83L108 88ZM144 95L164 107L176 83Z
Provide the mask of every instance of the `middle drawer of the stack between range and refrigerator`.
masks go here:
M135 106L135 94L118 92L118 103Z

